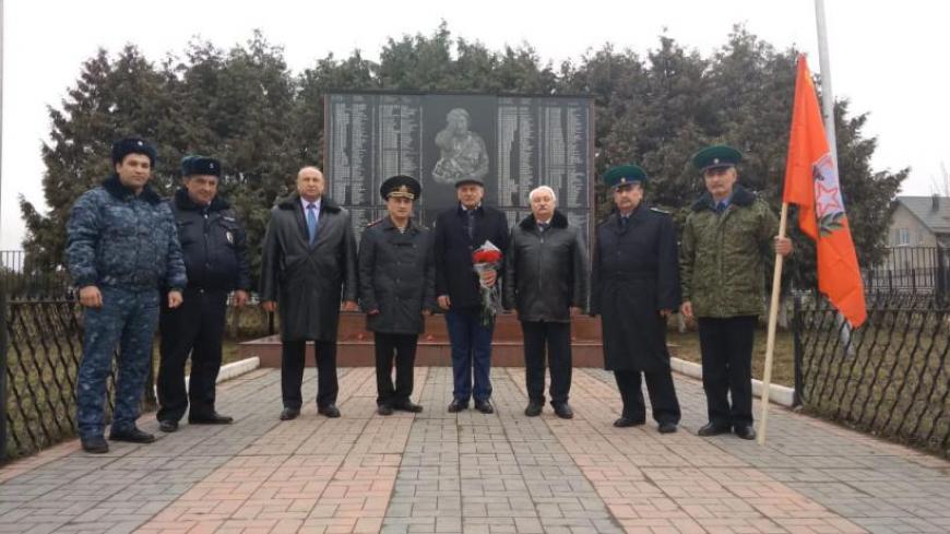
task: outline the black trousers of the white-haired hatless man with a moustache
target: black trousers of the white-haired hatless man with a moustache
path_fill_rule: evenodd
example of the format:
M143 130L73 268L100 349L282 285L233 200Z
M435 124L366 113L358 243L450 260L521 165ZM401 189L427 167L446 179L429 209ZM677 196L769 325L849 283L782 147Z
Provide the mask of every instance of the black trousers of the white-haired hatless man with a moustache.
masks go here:
M550 367L550 402L568 402L571 392L571 323L521 321L527 397L544 404L545 359Z

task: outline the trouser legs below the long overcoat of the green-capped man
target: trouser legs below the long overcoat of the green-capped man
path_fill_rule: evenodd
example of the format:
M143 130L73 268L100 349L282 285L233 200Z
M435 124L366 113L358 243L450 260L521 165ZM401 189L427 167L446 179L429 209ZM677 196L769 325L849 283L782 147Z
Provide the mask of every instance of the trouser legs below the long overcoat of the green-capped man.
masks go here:
M620 400L624 402L624 417L632 420L646 420L646 404L643 402L643 389L640 371L614 371ZM646 391L650 393L650 405L653 407L653 420L656 423L679 423L679 401L676 399L676 387L673 385L673 371L665 370L643 372L646 378Z

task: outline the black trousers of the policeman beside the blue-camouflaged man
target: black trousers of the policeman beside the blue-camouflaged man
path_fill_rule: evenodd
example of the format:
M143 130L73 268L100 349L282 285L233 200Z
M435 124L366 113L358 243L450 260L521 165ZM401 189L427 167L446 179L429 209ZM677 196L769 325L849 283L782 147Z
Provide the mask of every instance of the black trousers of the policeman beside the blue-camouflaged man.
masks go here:
M186 289L178 308L162 299L159 343L158 420L180 420L191 402L191 415L214 413L214 384L221 370L221 340L227 308L226 290ZM191 356L189 387L185 364Z

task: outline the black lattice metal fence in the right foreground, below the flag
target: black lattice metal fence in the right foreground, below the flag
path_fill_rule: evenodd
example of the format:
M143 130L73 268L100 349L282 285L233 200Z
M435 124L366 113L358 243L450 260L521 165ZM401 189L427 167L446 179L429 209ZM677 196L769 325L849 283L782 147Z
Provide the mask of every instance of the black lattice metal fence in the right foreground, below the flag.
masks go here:
M806 411L950 455L950 305L868 296L852 331L822 297L795 298L796 393Z

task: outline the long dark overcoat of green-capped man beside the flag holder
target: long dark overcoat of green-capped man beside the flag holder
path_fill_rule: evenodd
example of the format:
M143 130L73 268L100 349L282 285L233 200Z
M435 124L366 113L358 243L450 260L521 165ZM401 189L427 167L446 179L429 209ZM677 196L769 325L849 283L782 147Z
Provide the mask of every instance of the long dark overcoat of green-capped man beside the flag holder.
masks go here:
M668 368L666 319L679 307L676 232L669 215L641 203L626 226L619 213L597 226L591 313L602 316L608 370Z

